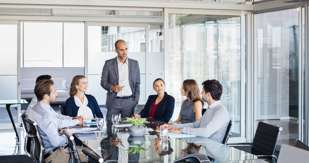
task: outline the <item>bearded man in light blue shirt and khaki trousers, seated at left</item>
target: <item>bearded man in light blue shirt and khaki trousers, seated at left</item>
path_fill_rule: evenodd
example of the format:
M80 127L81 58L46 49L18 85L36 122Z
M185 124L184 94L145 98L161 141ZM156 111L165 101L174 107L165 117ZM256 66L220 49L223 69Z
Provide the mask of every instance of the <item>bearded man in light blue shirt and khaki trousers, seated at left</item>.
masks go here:
M34 87L34 93L38 99L36 105L29 110L28 119L36 122L45 147L44 162L45 163L67 163L70 154L63 152L66 144L66 136L63 135L63 129L58 132L57 118L53 114L53 109L49 103L55 102L57 93L53 85L53 80L42 80ZM70 135L72 133L68 132ZM78 152L82 152L82 147L77 146ZM87 162L85 154L79 154L82 162Z

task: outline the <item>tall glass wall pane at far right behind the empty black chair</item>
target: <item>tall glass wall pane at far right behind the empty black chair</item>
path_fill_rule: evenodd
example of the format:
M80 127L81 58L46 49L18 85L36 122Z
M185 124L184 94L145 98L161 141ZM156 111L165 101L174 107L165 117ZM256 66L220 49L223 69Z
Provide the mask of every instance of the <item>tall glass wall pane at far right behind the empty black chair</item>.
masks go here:
M259 121L282 127L278 145L298 139L299 10L274 11L254 16L257 55L257 109ZM302 121L300 121L302 122Z

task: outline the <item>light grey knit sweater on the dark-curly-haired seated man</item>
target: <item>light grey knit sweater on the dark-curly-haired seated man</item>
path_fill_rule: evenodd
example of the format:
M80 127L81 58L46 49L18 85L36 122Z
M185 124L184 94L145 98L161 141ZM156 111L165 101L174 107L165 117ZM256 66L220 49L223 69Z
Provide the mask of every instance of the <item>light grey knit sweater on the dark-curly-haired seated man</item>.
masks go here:
M220 103L207 109L199 120L187 124L173 123L173 128L184 128L182 131L184 134L201 136L222 143L229 122L229 114Z

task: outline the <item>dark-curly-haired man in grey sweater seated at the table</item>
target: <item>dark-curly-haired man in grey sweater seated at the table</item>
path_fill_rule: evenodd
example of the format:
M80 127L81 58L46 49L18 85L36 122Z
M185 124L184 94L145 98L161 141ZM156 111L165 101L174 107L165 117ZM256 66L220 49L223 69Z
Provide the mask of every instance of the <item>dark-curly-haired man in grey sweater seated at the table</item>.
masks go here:
M196 135L222 143L230 122L227 109L220 102L222 85L215 79L206 80L202 85L202 101L208 104L208 108L203 116L192 123L164 124L160 128L167 127L170 129L170 133Z

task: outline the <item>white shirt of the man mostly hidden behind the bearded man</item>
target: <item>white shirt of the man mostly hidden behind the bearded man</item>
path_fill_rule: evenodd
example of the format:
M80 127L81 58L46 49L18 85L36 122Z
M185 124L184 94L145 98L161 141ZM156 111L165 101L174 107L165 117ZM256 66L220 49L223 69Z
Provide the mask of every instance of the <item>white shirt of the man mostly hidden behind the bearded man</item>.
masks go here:
M28 105L28 108L27 108L27 111L26 111L26 118L28 118L28 115L29 115L30 111L32 110L32 107L34 105L36 105L37 101L38 101L38 99L36 98L36 96L34 96L31 100L30 104ZM69 117L69 116L59 114L59 113L55 112L54 109L51 109L51 112L53 113L53 115L56 118L58 129L62 129L62 128L69 127L69 126L75 126L79 123L78 119L73 119L73 117Z

